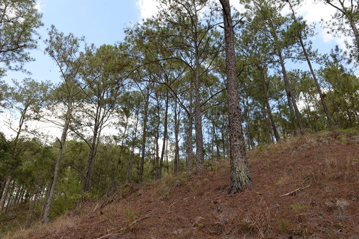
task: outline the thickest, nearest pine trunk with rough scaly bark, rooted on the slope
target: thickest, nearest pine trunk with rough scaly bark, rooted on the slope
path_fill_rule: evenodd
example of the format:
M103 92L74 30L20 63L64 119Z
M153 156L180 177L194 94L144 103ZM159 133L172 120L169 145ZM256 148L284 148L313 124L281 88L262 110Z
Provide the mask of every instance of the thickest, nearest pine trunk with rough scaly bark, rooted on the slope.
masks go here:
M234 52L234 31L229 0L220 0L223 8L225 52L227 68L227 96L230 142L230 193L250 187L252 179L246 156L243 137L241 110L239 108L237 65Z

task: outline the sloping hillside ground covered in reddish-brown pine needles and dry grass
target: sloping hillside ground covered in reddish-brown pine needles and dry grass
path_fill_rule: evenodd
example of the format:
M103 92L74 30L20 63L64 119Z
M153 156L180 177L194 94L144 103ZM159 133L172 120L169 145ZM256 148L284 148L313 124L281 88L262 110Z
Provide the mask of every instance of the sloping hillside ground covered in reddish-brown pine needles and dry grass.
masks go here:
M8 238L359 239L358 133L308 134L248 157L253 185L241 193L227 193L228 159L207 162L200 176L165 174Z

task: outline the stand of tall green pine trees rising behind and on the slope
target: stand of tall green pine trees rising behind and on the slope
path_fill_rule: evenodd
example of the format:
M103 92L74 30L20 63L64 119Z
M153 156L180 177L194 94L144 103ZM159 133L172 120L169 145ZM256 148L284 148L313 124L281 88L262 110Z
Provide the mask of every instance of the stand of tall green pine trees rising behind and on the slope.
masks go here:
M0 111L13 119L4 121L13 133L0 132L0 214L26 208L26 225L48 222L79 199L163 173L201 174L204 160L221 158L237 193L252 182L247 149L358 126L357 1L325 0L336 9L328 27L351 40L324 55L300 0L243 0L242 12L229 0L159 2L116 45L48 29L58 84L0 81ZM0 3L1 75L24 70L41 25L34 0Z

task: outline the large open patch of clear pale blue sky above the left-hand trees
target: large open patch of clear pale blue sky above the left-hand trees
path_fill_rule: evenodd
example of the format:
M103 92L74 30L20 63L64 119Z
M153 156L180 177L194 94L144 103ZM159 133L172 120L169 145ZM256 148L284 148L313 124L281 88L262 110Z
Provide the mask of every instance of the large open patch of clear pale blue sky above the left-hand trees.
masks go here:
M72 32L75 36L85 36L87 43L96 46L114 44L124 38L124 28L131 22L141 19L140 7L136 0L40 0L37 3L42 12L44 26L38 30L41 38L38 49L30 54L36 60L25 64L31 72L7 72L3 78L7 83L11 79L21 80L31 77L38 81L59 81L59 72L51 58L44 55L43 39L47 37L47 28L51 24L64 33Z

